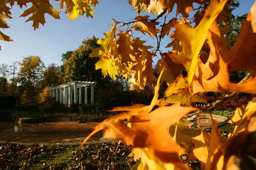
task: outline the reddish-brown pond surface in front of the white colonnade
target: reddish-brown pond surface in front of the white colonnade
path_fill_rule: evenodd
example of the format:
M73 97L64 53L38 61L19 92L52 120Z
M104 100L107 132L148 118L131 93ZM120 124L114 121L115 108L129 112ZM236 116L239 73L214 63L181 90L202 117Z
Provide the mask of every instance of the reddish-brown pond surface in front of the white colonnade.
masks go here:
M11 143L74 143L81 144L84 138L99 123L46 122L18 123L0 122L0 142ZM113 141L113 140L112 140ZM109 142L102 139L102 132L96 133L88 143Z

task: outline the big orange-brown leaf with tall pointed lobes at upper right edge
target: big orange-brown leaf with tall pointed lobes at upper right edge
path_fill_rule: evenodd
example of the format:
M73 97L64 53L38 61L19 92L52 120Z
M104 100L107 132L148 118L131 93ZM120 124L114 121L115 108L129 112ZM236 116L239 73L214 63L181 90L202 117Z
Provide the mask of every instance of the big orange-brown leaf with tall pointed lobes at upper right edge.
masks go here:
M256 8L252 7L252 8ZM229 72L247 69L256 71L256 33L252 31L251 16L248 14L246 21L242 25L240 35L234 46L227 50L221 39L221 33L216 23L210 27L208 34L208 44L210 46L210 56L204 64L198 61L195 68L193 91L228 91L246 92L256 94L256 77L252 77L240 84L232 83L229 80ZM244 60L246 57L246 60ZM217 61L217 62L215 62Z

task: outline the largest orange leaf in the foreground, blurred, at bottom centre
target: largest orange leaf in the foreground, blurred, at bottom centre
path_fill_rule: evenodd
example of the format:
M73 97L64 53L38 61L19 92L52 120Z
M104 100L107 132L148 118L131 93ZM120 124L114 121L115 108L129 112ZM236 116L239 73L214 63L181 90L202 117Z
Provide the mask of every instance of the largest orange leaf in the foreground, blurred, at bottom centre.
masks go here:
M104 129L104 137L119 139L126 145L141 148L149 158L155 155L166 163L175 162L176 166L182 168L184 164L178 156L182 149L172 141L168 127L194 110L192 107L181 107L176 104L160 107L148 113L148 107L142 107L138 111L128 111L106 119L95 127L92 134ZM127 118L130 127L122 122Z

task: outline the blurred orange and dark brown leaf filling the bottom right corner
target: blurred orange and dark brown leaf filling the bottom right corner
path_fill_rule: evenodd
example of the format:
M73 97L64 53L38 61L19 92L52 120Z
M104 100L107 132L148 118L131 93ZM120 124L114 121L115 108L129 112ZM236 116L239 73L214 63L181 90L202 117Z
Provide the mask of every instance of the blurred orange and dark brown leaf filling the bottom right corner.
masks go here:
M216 154L213 161L218 169L252 169L255 167L256 103L236 109L231 119L234 131L221 145L221 155ZM213 165L214 166L214 165Z

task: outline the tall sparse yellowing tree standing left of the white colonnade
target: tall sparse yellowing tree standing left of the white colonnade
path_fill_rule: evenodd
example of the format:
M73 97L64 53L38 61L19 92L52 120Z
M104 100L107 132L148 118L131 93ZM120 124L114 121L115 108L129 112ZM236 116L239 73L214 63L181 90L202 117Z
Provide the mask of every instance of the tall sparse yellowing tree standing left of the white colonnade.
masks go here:
M38 56L24 57L20 64L20 86L21 103L30 104L37 102L38 94L42 90L42 78L44 63Z

